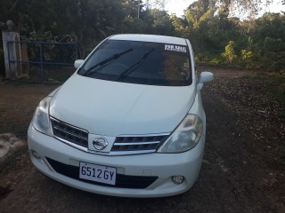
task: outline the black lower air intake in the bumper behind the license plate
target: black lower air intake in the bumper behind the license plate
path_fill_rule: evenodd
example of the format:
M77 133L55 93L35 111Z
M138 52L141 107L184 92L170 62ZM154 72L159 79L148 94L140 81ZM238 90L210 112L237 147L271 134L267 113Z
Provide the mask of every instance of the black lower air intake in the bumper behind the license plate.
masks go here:
M53 159L46 158L46 160L53 167L53 170L60 173L61 175L71 177L86 183L91 183L94 185L106 185L110 187L118 188L132 188L132 189L144 189L151 185L158 177L145 177L145 176L126 176L122 174L117 174L116 185L107 185L90 180L79 178L79 167L67 165L62 162L54 161Z

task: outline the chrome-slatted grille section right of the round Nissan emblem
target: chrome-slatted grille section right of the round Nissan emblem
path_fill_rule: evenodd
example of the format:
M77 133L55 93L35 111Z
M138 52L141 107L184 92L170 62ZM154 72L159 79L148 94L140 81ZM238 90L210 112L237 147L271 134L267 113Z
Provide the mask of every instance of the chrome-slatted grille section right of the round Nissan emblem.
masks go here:
M168 134L164 135L147 135L147 136L126 136L117 137L111 152L141 152L141 151L156 151L159 145L165 141Z

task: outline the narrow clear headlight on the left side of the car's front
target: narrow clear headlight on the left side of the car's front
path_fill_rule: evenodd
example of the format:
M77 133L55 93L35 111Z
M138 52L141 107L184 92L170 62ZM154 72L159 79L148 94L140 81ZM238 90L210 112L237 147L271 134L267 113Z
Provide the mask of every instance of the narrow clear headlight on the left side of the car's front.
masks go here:
M51 122L48 114L51 99L52 97L46 97L39 103L32 120L32 124L36 130L49 136L53 136Z

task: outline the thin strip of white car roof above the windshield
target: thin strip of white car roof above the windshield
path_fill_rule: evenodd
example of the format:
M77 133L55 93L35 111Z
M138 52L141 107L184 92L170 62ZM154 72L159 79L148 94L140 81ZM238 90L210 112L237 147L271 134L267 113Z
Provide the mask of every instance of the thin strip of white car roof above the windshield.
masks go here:
M173 37L173 36L158 36L158 35L144 35L144 34L119 34L115 36L110 36L109 39L187 45L185 38Z

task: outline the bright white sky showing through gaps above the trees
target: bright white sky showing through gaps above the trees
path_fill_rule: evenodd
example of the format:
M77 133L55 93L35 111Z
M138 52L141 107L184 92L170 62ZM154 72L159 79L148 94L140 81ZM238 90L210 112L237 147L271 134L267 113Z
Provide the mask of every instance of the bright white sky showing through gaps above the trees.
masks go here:
M265 0L263 0L265 2ZM168 13L175 13L176 16L181 17L183 15L183 10L185 10L190 4L195 2L195 0L166 0L166 11ZM268 8L265 8L263 12L285 12L285 5L281 4L281 0L273 0Z

